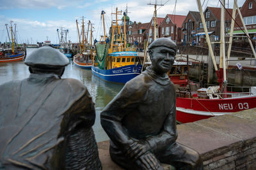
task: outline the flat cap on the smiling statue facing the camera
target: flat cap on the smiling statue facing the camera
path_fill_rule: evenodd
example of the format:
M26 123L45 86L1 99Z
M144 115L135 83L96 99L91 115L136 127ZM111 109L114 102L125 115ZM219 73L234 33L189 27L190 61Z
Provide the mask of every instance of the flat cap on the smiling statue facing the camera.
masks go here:
M172 41L172 39L170 38L158 38L155 41L153 41L153 43L151 43L148 46L148 50L155 48L157 46L165 46L167 48L172 48L173 50L175 50L175 52L177 51L177 45L175 42Z

